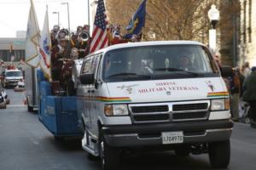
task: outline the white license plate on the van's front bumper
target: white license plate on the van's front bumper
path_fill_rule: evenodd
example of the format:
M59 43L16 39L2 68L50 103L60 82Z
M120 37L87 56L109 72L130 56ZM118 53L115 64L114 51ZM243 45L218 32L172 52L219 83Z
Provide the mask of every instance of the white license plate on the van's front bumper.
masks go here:
M183 143L183 132L162 133L162 144L180 144Z

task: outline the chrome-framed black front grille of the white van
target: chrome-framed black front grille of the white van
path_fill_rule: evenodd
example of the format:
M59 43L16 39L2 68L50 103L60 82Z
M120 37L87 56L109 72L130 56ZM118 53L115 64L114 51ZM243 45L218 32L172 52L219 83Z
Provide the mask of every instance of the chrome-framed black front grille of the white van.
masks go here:
M184 122L207 120L209 100L131 104L133 123Z

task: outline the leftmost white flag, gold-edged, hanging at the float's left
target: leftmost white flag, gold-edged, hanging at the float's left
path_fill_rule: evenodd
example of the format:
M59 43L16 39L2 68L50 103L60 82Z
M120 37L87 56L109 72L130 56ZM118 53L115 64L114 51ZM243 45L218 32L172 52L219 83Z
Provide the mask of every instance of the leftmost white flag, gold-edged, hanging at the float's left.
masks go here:
M38 26L38 18L32 0L30 1L30 3L31 7L29 11L26 29L26 64L31 65L32 67L38 67L38 47L40 30Z

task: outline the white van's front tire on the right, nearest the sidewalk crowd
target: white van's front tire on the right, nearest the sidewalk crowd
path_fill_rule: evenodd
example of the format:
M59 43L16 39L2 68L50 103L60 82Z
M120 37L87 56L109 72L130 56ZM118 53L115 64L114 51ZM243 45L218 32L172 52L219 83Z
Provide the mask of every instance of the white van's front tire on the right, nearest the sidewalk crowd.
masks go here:
M208 145L209 159L213 168L226 168L230 164L230 140Z

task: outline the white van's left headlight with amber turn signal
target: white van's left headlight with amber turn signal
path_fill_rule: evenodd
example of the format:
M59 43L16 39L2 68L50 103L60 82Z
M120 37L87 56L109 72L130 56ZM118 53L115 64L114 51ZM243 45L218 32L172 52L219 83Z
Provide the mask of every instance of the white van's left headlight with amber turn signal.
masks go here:
M106 116L127 116L129 114L127 105L105 105Z

